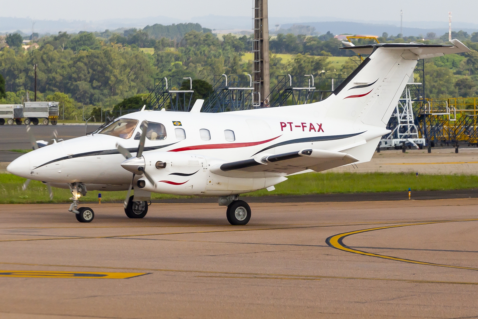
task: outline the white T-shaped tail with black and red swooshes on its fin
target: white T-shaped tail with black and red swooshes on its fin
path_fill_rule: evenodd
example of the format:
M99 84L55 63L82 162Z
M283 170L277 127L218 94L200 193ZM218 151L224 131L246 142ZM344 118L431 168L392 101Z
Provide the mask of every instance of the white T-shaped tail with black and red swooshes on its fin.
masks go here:
M346 47L369 57L327 98L327 116L385 127L419 59L469 51L456 39L452 43Z

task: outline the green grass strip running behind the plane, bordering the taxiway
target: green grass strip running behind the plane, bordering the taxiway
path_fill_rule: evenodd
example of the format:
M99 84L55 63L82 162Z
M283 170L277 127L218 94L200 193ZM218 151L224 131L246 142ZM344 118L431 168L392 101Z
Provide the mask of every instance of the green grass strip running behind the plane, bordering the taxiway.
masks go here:
M25 178L11 174L0 174L0 204L62 203L69 202L69 189L53 188L50 200L46 185L32 181L25 191ZM243 196L306 195L326 193L366 193L412 190L452 190L478 188L478 176L473 175L420 175L414 173L307 173L289 176L269 192L265 189ZM80 201L98 200L98 191L88 191ZM102 202L123 200L126 191L101 192ZM155 194L152 199L188 198L168 194Z

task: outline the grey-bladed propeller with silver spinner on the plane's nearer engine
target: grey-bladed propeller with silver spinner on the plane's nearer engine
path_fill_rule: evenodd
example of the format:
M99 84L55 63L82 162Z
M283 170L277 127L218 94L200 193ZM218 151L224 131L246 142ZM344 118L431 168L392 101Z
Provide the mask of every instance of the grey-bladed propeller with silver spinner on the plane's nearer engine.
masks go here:
M154 185L154 179L149 175L145 170L145 162L144 158L141 157L143 151L144 151L144 143L146 142L146 130L148 129L148 121L143 121L141 123L141 138L140 138L140 143L138 145L138 151L136 152L136 156L133 157L131 153L124 147L122 147L120 144L116 143L116 148L118 151L126 158L126 160L121 163L121 166L133 173L133 178L131 179L130 187L128 189L128 193L126 194L126 199L123 202L124 208L128 205L128 201L130 199L130 194L131 194L131 189L133 188L133 181L134 181L134 176L135 175L143 175L148 179L148 181Z

